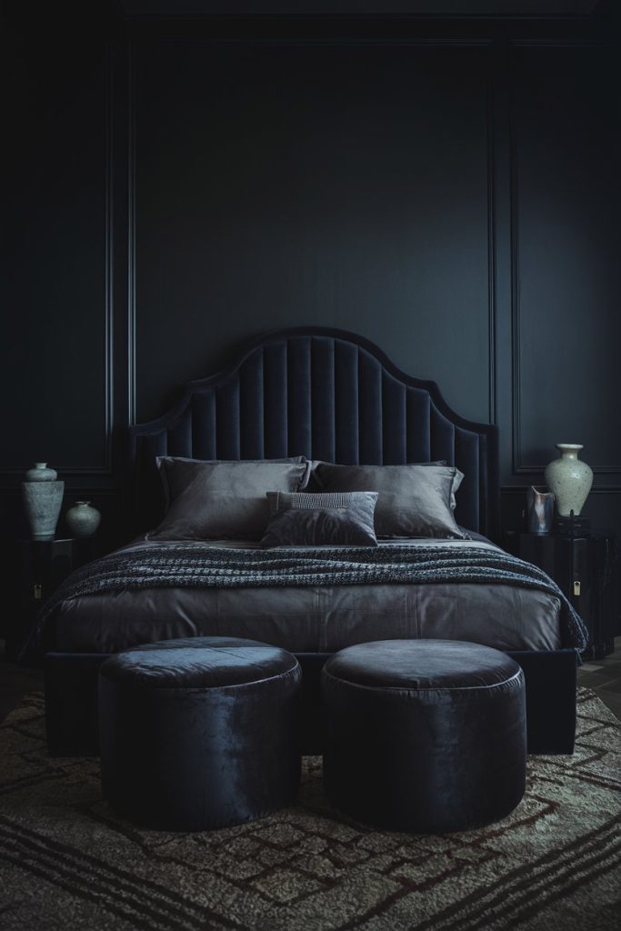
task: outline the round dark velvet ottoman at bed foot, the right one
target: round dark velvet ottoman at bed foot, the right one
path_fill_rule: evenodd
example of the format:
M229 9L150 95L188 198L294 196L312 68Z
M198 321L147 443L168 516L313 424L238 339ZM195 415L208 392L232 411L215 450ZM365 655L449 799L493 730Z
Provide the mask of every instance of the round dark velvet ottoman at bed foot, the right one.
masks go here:
M466 830L524 794L520 666L463 641L347 647L322 672L331 803L391 830Z

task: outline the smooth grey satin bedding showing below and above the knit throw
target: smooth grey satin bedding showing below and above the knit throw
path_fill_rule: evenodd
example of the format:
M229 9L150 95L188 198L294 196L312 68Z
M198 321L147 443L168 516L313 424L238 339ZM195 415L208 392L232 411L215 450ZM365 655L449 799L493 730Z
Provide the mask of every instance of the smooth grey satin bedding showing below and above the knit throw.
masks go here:
M463 546L461 540L444 539L391 540L380 546L449 543ZM153 545L150 540L148 546ZM193 546L257 544L227 540ZM495 548L474 541L468 546ZM479 583L157 588L65 600L50 620L49 633L49 649L71 653L116 653L136 643L197 635L248 637L296 653L331 653L360 641L399 638L556 650L560 601L528 588Z

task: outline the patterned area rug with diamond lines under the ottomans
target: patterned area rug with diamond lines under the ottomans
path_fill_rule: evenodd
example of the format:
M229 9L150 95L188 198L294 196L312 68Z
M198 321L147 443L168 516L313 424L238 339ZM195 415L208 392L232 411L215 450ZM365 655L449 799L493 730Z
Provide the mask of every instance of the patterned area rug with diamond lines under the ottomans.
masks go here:
M621 731L579 692L572 757L531 757L526 796L484 830L432 836L339 816L307 757L299 801L196 834L138 830L101 801L97 760L49 759L43 699L0 734L0 927L616 931Z

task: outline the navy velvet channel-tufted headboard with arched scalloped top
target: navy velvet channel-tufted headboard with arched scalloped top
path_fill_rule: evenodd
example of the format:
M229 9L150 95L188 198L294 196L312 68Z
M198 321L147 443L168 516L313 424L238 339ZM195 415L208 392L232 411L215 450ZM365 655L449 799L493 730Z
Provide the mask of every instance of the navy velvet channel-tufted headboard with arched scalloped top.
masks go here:
M438 385L399 371L355 333L321 327L268 333L226 371L190 382L177 406L129 428L137 519L160 518L156 455L400 465L445 459L464 472L456 518L498 534L497 427L445 403Z

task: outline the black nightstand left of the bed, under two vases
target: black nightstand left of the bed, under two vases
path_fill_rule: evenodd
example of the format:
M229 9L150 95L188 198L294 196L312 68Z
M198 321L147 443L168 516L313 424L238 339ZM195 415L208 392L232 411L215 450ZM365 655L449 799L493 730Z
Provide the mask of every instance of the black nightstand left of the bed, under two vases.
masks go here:
M7 632L7 657L15 658L43 602L74 569L98 555L92 537L20 540L20 599Z

